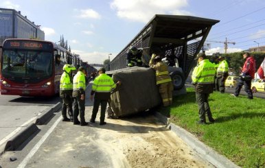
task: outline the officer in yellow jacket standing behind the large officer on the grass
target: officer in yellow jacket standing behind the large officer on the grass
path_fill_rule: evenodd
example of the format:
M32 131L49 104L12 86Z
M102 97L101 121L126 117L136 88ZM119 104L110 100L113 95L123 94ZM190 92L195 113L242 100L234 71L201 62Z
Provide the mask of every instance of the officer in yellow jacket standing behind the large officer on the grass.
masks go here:
M223 56L219 56L218 58L219 64L216 69L216 91L220 91L220 93L224 93L225 86L224 82L228 77L228 64Z

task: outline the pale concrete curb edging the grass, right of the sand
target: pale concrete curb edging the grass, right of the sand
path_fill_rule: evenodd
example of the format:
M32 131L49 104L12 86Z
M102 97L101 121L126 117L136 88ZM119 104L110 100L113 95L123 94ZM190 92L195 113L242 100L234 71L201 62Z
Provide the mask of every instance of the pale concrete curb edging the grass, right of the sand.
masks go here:
M174 125L174 123L169 123L169 119L163 115L161 115L159 112L155 112L155 116L161 119L161 122L165 123L166 125L169 125L170 130L172 130L178 137L180 137L189 147L192 147L198 154L200 154L201 158L204 158L209 163L216 167L238 167L235 165L235 163L231 162L228 158L218 154L214 151L214 149L211 149L211 147L208 147L204 143L198 141L196 136L193 134L187 132L183 128Z

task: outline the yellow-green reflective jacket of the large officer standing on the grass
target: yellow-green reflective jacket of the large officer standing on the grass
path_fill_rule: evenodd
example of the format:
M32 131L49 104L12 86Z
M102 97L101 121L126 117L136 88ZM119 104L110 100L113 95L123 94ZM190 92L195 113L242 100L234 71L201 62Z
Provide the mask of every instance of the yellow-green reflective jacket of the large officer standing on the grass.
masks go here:
M199 62L192 73L192 82L196 84L214 84L216 69L208 59Z

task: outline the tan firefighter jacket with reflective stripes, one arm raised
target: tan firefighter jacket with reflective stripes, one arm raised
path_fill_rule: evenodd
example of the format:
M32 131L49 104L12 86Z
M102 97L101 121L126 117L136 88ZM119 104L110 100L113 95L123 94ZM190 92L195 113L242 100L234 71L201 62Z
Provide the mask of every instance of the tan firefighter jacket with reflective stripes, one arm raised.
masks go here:
M157 62L157 64L154 64L154 57L155 55L153 54L149 66L156 71L157 85L165 82L172 82L170 74L168 73L168 65L164 62Z

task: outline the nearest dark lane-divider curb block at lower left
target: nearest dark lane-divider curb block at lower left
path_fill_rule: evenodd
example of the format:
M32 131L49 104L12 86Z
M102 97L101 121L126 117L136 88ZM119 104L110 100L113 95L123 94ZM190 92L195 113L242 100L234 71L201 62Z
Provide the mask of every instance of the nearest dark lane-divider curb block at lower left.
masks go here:
M22 143L24 143L25 140L27 140L34 132L36 132L38 127L36 126L35 123L31 123L28 125L24 130L19 132L19 134L16 134L12 139L10 139L6 144L5 144L5 149L4 151L14 151L17 149Z

